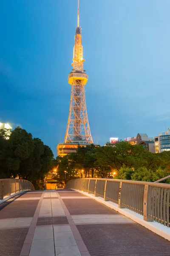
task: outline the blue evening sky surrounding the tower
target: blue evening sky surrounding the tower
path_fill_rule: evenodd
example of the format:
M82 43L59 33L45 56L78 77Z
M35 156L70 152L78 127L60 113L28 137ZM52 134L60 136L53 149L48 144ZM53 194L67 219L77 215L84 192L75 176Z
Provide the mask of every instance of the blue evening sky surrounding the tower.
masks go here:
M170 127L170 0L80 0L94 143ZM0 122L57 155L68 120L77 0L0 1Z

